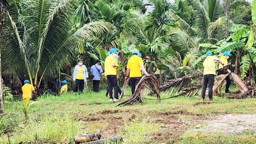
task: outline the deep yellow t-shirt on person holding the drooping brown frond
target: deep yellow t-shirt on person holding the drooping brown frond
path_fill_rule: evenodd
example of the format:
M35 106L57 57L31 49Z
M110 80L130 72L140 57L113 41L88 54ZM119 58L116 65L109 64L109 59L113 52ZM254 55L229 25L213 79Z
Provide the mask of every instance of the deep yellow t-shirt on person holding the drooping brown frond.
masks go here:
M140 65L143 64L142 58L137 55L133 55L127 64L127 68L130 69L130 78L141 77Z

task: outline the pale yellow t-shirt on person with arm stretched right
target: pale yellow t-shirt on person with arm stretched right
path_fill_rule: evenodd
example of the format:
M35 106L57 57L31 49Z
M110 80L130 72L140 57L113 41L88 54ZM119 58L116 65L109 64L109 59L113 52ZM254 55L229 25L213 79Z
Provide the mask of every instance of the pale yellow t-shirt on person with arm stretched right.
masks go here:
M204 75L206 74L216 74L215 70L215 56L207 56L204 60Z

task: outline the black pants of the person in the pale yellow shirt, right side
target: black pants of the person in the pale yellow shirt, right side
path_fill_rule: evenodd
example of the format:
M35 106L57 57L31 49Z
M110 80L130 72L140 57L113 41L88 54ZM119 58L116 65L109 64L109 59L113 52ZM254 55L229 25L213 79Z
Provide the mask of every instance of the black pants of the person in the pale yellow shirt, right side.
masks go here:
M205 74L203 80L202 98L205 98L205 91L208 85L208 96L212 98L212 87L214 83L214 74Z

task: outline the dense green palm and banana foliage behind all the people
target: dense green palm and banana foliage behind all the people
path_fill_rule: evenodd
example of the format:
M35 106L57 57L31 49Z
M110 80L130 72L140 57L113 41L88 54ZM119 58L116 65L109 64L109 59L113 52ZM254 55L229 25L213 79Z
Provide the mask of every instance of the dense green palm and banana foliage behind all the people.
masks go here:
M116 47L120 72L136 48L158 64L165 79L202 69L208 50L231 51L232 71L255 83L254 26L250 3L230 0L230 37L220 0L8 0L1 12L2 77L12 89L24 79L54 89L72 82L78 58L90 70ZM2 10L2 9L1 9ZM248 44L248 42L250 44ZM250 79L250 81L249 81Z

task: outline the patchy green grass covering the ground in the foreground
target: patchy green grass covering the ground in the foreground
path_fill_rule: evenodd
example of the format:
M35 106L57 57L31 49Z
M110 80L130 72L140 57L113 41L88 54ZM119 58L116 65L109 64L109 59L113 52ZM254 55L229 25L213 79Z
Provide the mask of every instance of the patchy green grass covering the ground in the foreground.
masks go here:
M126 93L130 94L130 90ZM168 98L168 95L162 94L161 97ZM151 96L146 98L156 99ZM124 144L256 143L255 132L250 131L241 135L188 132L198 119L211 119L227 113L256 114L255 98L214 97L211 104L202 104L199 100L198 97L172 98L162 102L146 99L144 104L114 107L116 103L108 102L103 90L81 95L73 92L62 96L45 94L36 100L39 103L31 106L27 122L17 109L17 106L23 105L22 101L5 105L7 115L1 116L0 143L8 143L8 134L12 144L34 142L36 136L38 144L46 140L55 144L98 130L102 130L103 138L123 136ZM195 123L187 125L186 120Z

